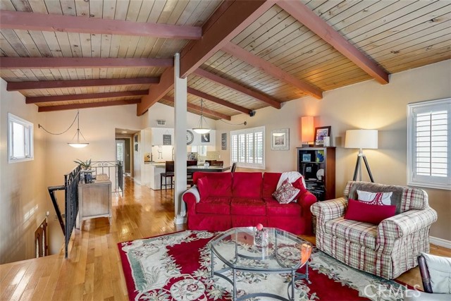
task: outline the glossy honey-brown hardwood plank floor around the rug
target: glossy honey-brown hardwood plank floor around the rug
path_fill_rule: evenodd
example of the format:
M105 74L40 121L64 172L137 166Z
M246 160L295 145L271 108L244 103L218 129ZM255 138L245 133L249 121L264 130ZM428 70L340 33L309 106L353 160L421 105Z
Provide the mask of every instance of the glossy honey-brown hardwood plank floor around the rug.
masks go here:
M171 190L154 191L125 178L125 193L113 195L113 218L84 221L73 233L69 258L60 254L0 265L0 300L128 300L116 244L185 230L173 223ZM313 236L304 236L314 242ZM451 257L435 245L431 253ZM418 268L400 281L421 285Z

